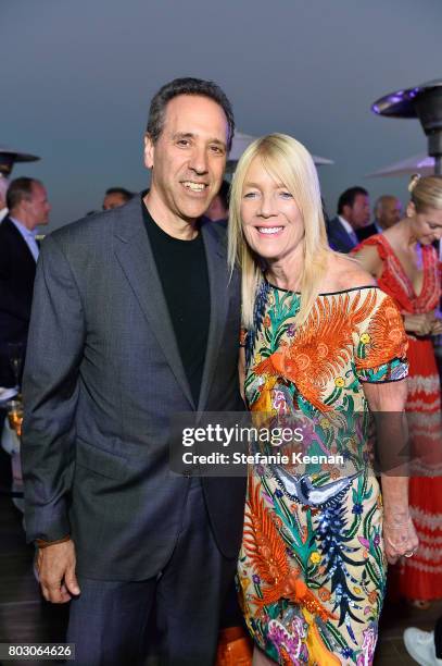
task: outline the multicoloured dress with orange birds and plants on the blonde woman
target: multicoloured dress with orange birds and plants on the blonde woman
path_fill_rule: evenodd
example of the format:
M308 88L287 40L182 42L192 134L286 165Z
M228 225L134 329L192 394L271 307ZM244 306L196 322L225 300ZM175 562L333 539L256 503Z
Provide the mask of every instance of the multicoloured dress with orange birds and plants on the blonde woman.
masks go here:
M313 461L251 468L240 600L253 639L277 664L368 665L386 562L362 382L406 375L406 336L377 287L319 295L296 330L299 307L299 294L264 282L245 335L249 408L300 415L306 436L296 446Z

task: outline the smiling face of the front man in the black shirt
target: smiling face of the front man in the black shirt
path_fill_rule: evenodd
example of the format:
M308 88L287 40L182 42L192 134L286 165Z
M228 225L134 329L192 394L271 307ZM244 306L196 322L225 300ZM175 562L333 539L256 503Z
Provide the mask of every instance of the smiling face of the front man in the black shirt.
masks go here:
M179 95L165 110L163 131L146 137L144 162L152 169L149 200L165 222L193 221L219 190L226 166L228 124L215 101Z

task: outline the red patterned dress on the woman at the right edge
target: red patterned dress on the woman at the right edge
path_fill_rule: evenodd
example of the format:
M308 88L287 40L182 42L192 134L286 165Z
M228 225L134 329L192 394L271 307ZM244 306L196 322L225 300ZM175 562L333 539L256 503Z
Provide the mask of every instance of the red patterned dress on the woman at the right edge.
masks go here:
M388 239L378 234L372 245L383 262L378 284L403 313L420 314L439 306L441 272L437 251L422 247L424 283L419 295ZM409 504L419 550L401 564L400 592L407 599L442 599L442 414L441 386L430 337L408 336L408 399L406 405L414 468Z

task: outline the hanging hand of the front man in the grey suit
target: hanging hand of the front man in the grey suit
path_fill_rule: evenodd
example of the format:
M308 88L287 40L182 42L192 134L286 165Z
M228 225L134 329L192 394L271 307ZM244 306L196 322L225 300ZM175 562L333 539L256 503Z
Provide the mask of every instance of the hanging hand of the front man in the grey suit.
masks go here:
M72 539L38 550L37 570L41 592L53 604L65 604L80 593L75 576L75 546Z

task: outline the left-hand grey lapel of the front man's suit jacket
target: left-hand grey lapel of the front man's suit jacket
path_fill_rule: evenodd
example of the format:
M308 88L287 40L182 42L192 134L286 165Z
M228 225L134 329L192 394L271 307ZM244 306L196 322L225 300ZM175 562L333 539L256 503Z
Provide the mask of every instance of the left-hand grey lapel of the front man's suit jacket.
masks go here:
M179 355L174 329L144 227L141 201L136 197L125 206L127 217L114 223L115 255L149 321L177 383L194 409L195 405Z

